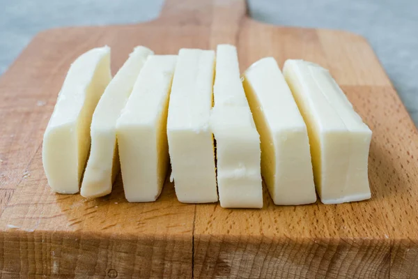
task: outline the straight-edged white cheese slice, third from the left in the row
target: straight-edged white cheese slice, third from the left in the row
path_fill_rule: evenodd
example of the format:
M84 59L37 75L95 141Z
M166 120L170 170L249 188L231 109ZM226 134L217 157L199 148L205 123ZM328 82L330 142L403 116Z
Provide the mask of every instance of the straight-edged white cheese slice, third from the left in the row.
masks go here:
M128 202L153 202L169 167L167 112L175 55L151 55L117 123L123 188Z

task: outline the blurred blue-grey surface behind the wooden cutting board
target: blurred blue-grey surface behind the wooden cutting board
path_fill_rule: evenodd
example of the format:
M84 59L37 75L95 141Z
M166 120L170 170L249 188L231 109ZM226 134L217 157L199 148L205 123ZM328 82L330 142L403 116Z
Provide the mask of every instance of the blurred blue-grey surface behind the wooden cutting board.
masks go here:
M64 26L144 22L163 0L0 0L0 75L31 38ZM251 17L299 27L345 29L371 43L418 124L418 0L249 0Z

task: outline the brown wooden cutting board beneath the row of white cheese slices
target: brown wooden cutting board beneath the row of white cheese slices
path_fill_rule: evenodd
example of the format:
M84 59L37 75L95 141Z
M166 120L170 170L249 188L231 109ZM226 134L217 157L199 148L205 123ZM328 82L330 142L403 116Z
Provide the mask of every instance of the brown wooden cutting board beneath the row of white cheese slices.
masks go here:
M237 45L241 70L263 56L329 68L373 130L372 199L261 210L129 204L118 178L94 200L56 195L42 169L42 135L70 63L111 46L112 70L132 48ZM416 278L418 134L364 38L275 27L242 0L171 0L152 22L44 31L0 77L0 274L3 278Z

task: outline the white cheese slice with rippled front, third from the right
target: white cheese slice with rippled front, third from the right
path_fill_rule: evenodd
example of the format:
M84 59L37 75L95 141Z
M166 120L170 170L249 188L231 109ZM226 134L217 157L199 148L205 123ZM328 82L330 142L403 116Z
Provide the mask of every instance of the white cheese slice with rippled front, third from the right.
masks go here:
M217 144L217 184L222 207L263 207L260 136L240 79L233 45L217 46L215 107L211 128Z

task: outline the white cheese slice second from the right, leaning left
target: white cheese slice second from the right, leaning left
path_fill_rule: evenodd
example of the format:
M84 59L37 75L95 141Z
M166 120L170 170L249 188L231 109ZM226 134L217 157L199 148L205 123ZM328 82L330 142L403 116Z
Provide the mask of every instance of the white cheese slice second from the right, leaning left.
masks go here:
M274 204L316 202L307 126L272 57L244 74L243 84L261 135L261 172Z

